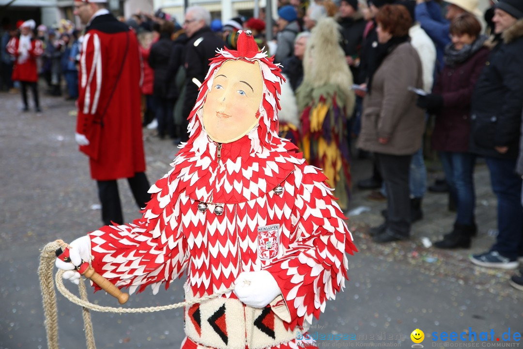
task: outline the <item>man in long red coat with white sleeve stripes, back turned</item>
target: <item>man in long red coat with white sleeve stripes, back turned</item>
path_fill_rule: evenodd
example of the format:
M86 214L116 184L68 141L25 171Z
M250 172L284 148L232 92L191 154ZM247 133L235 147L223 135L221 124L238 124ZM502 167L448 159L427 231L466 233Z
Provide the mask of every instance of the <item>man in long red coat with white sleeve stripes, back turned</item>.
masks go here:
M75 1L74 13L86 25L75 139L89 156L103 222L122 224L116 179L128 179L140 208L151 198L142 141L138 40L109 13L105 0Z

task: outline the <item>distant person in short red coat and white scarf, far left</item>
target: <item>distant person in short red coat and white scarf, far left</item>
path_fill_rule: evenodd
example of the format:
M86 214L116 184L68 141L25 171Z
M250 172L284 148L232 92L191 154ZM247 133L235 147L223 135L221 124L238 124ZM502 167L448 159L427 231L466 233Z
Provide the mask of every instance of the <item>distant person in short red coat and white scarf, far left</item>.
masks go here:
M32 19L22 22L18 27L20 37L14 37L7 43L7 52L16 58L13 66L13 81L19 81L22 91L24 111L29 110L27 102L27 87L31 88L35 100L36 111L41 111L38 98L38 67L37 58L43 53L42 41L33 37L36 22Z

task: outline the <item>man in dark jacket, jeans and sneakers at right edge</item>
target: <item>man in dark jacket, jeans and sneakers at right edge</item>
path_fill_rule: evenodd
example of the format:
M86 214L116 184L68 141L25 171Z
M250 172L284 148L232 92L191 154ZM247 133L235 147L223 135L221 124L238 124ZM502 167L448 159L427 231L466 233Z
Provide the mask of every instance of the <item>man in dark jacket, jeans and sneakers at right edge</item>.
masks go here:
M523 255L521 177L515 172L523 96L523 2L501 0L493 18L503 37L492 51L472 95L470 151L485 157L496 194L498 235L474 264L516 268Z

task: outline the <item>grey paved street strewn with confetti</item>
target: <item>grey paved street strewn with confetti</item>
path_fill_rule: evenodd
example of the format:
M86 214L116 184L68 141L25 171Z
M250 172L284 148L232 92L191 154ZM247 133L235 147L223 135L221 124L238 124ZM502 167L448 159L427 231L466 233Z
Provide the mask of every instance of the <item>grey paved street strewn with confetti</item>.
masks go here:
M37 275L39 249L59 238L70 242L101 224L100 211L93 207L99 203L96 183L74 141L74 104L61 97L41 99L43 112L37 115L20 111L19 95L0 94L0 349L47 348ZM147 176L154 183L168 171L176 149L149 130L144 130L144 139ZM369 175L370 166L369 160L353 162L354 183ZM437 175L429 172L429 183ZM354 190L351 209L364 212L351 216L348 225L360 252L349 256L345 291L327 303L311 333L349 338L355 334L356 340L319 340L318 346L411 347L410 334L416 328L425 332L425 347L442 343L430 339L434 332L439 336L471 328L479 335L494 330L502 344L504 332L523 332L523 292L507 283L513 272L474 267L468 261L470 253L490 247L496 228L496 200L484 165L477 165L475 180L479 234L471 250L424 246L423 238L436 241L454 219L447 211L446 195L431 193L423 201L425 219L414 224L410 241L374 244L366 231L381 223L385 204L366 200L369 192ZM124 217L138 218L127 182L119 185ZM156 296L148 288L131 296L126 307L183 301L181 285L175 282ZM67 286L76 291L74 285ZM93 295L89 290L89 299L118 306L103 292ZM81 309L60 294L58 307L60 347L84 348ZM183 310L93 312L92 317L98 349L178 348L184 337Z

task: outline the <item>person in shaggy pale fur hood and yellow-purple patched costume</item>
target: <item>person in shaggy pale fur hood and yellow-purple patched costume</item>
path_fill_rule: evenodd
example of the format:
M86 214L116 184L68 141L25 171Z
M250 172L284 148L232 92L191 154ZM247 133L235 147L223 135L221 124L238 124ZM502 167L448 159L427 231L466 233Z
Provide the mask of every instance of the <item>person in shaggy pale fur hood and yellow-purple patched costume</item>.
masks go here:
M353 76L339 46L333 18L313 28L305 50L303 83L297 90L305 159L322 168L336 188L339 206L347 209L350 195L350 150L347 120L353 114Z

